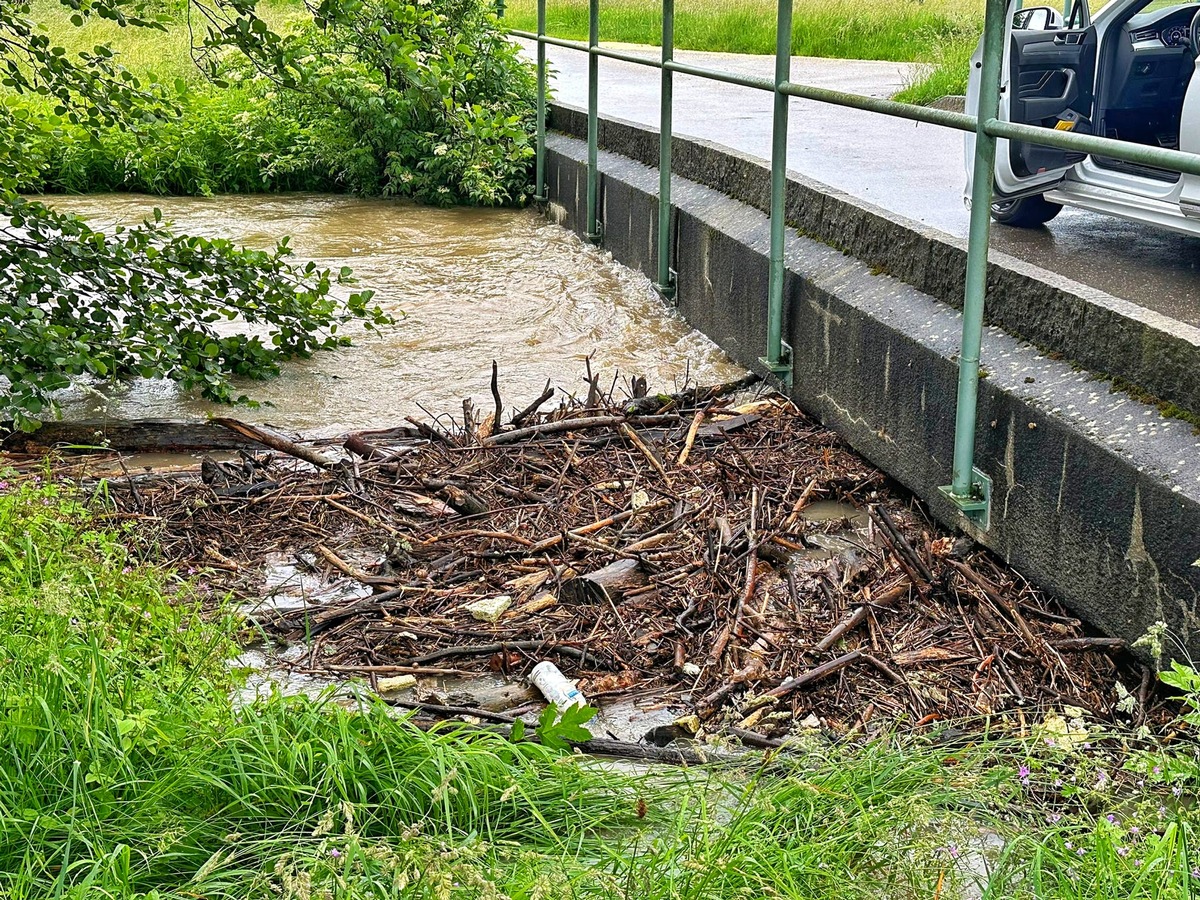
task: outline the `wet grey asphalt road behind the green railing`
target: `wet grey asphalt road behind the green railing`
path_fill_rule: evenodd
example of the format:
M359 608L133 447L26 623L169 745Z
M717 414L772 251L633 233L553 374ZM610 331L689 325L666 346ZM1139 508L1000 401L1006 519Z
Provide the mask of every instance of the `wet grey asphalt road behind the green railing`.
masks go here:
M527 52L530 44L526 44ZM658 55L656 48L623 49ZM557 100L587 106L587 55L547 48ZM770 77L773 56L678 52L677 59ZM913 73L911 64L797 58L792 80L887 97ZM600 113L658 126L659 73L600 60ZM767 158L772 96L766 91L676 74L676 133L714 140ZM962 134L827 103L792 100L790 169L872 204L965 236ZM992 227L994 248L1109 294L1200 326L1200 239L1110 216L1063 210L1048 227Z

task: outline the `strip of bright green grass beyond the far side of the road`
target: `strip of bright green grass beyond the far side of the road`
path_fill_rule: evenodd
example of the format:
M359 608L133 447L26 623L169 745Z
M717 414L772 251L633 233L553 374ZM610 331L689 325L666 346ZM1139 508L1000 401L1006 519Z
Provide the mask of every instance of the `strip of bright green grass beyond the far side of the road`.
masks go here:
M533 31L536 8L535 0L510 0L505 16L514 28ZM550 0L546 30L556 37L586 40L587 0ZM904 95L910 102L928 102L944 94L964 92L966 60L982 31L982 5L967 5L962 0L796 0L792 53L929 64L928 74ZM658 43L661 37L660 1L602 0L600 37L613 42ZM775 4L772 0L684 0L676 7L676 46L691 50L773 54Z

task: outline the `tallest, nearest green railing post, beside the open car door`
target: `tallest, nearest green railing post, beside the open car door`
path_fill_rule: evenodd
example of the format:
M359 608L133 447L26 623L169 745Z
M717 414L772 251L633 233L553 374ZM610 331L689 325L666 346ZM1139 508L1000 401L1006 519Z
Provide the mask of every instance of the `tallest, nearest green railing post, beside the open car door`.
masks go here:
M971 232L962 302L962 347L959 352L959 398L954 416L954 463L950 484L942 488L980 528L990 524L991 480L974 468L976 406L979 394L979 347L983 308L988 293L988 238L991 229L992 179L996 138L986 124L1000 113L1004 56L1006 0L986 0L983 60L979 72L974 169L971 179Z

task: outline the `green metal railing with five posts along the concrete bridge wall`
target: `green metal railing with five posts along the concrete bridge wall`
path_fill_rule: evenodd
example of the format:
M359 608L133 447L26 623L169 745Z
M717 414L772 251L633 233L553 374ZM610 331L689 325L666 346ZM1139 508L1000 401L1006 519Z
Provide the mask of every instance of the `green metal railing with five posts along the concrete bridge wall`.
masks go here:
M503 1L503 0L502 0ZM1127 162L1152 166L1189 175L1200 175L1200 155L1164 148L1132 144L1091 134L1004 122L998 119L1001 78L1004 54L1004 26L1009 0L984 0L983 59L978 115L944 109L896 103L878 97L797 84L791 80L792 0L778 0L775 77L761 78L704 68L674 59L674 0L662 2L662 58L655 60L600 46L600 0L589 0L588 41L568 41L546 34L546 0L538 0L538 31L510 30L509 34L538 44L538 137L536 192L546 198L546 47L563 47L588 54L588 174L587 236L599 242L602 222L599 212L600 172L599 134L599 61L613 59L661 71L661 114L659 132L659 233L658 282L655 287L667 299L676 293L676 260L671 246L671 144L672 92L676 73L695 76L725 84L742 85L774 94L770 155L770 277L767 298L766 355L761 362L785 383L791 378L791 348L784 342L784 247L786 244L785 202L787 192L787 113L791 97L833 103L853 109L974 132L974 166L971 187L971 224L967 240L967 270L962 306L962 343L959 353L958 408L954 424L954 457L950 484L941 488L958 508L986 529L990 522L991 481L974 468L976 406L979 388L979 349L983 341L984 299L988 288L988 242L991 228L992 172L996 139L1024 140L1082 154L1099 154ZM1069 2L1069 0L1068 0ZM950 173L947 173L950 174Z

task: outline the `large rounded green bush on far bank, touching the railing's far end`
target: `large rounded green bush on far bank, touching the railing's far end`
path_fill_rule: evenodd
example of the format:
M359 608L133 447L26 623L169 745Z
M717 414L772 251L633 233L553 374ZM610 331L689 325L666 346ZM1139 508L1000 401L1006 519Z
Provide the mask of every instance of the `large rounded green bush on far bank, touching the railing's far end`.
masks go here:
M284 36L239 13L210 32L210 71L298 124L276 170L442 205L526 199L535 77L487 0L325 0Z

